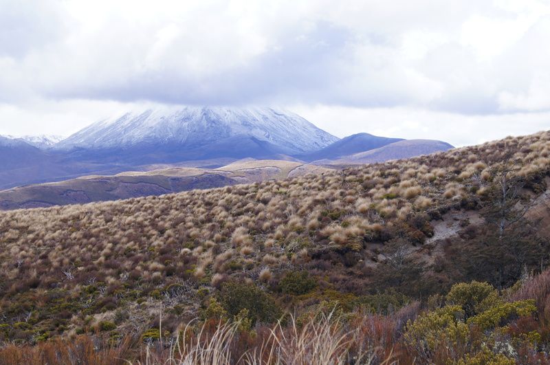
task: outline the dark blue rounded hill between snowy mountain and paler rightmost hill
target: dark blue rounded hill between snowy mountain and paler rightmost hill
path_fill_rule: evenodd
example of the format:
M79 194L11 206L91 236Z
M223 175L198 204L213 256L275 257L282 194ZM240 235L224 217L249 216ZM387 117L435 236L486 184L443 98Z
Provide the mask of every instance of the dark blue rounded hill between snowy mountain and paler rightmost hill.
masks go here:
M319 151L298 155L296 157L304 161L315 161L318 159L336 159L338 157L353 155L364 151L370 151L388 144L402 141L401 138L378 137L369 133L358 133L344 137Z

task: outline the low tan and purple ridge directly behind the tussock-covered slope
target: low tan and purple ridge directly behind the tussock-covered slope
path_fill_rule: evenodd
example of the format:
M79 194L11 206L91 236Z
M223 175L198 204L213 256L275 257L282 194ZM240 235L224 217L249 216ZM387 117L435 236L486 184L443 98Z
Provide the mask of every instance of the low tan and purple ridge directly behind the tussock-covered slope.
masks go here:
M298 162L245 159L221 168L166 167L146 172L129 171L118 175L94 175L0 191L0 210L163 195L170 192L250 184L327 171L329 171L328 168Z

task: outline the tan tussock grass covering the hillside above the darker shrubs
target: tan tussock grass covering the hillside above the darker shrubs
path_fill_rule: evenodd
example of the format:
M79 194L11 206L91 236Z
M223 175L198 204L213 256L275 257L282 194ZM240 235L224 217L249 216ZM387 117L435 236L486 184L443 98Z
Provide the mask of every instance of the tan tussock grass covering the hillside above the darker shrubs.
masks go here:
M301 268L322 289L365 294L384 261L371 243L421 245L432 219L475 208L492 167L511 155L514 173L538 183L549 175L549 151L542 132L283 181L0 212L0 324L12 328L30 313L39 332L17 333L34 342L88 331L124 310L131 318L117 331L137 333L151 326L155 300L196 316L199 291L252 280L274 292ZM192 285L177 304L163 293L182 280Z

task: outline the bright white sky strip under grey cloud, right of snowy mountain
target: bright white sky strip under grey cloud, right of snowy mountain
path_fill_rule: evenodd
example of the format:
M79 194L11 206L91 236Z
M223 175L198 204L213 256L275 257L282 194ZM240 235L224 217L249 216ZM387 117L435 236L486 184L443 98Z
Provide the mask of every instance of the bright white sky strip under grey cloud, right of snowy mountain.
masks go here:
M365 132L388 137L443 140L454 146L536 133L550 126L550 112L460 115L410 107L363 109L323 105L296 105L293 110L338 137Z

